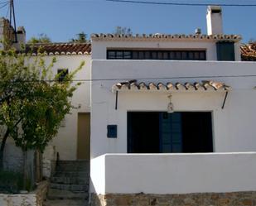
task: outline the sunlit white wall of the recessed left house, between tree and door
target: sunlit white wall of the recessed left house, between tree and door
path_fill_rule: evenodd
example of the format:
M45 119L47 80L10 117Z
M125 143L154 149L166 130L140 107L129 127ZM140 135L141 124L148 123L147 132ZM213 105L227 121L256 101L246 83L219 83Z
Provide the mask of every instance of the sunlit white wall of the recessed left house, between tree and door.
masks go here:
M51 56L47 58L51 59ZM57 69L69 69L71 72L85 61L85 66L75 76L76 80L90 79L91 60L90 55L58 55L57 62L54 65L53 72L57 73ZM76 160L77 152L77 113L90 112L90 82L82 81L80 87L75 91L72 97L72 104L78 109L73 109L71 114L65 117L63 127L60 127L57 137L51 143L56 146L56 152L60 154L60 160Z

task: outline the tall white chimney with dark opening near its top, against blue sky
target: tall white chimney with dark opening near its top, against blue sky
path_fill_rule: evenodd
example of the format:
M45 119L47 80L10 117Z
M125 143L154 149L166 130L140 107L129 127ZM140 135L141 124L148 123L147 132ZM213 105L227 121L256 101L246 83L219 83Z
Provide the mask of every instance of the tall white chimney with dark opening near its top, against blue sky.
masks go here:
M220 6L208 6L207 14L207 34L222 34L222 9Z

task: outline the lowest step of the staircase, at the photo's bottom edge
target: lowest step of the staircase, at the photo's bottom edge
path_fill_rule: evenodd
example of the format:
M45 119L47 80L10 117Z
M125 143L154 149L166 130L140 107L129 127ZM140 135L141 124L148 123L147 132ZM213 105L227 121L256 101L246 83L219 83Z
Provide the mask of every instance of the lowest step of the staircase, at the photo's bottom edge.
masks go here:
M86 200L74 200L74 199L47 199L43 206L88 206Z

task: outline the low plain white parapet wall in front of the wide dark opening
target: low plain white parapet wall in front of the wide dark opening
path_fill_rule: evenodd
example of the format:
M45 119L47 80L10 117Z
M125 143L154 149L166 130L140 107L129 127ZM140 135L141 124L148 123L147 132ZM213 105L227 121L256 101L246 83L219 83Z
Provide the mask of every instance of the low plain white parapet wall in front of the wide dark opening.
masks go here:
M98 171L98 172L96 172ZM256 152L106 154L91 160L91 193L256 191Z

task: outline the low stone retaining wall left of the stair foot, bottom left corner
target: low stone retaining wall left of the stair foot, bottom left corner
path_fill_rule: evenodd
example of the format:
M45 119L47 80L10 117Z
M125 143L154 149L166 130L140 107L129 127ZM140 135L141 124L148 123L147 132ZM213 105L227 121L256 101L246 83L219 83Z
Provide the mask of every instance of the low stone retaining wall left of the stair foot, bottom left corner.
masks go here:
M42 206L46 199L48 181L41 182L35 191L29 194L0 194L1 206Z

